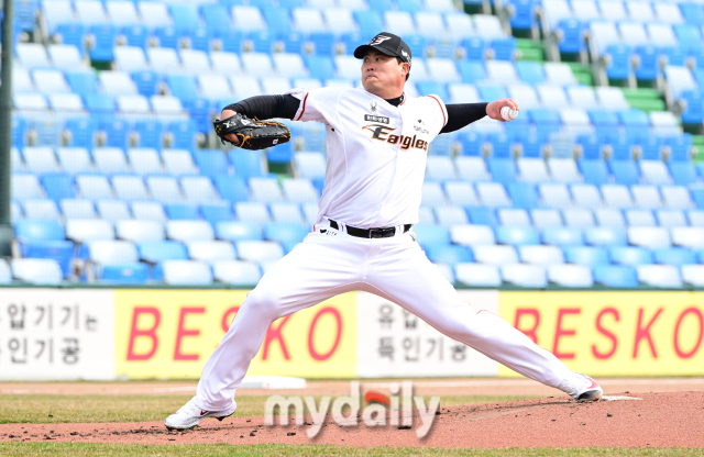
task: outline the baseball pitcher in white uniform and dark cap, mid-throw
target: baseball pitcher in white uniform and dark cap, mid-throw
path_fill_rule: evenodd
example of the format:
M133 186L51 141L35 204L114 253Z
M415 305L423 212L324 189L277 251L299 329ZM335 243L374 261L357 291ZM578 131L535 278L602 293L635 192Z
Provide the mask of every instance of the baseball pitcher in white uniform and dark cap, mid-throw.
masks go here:
M326 183L312 232L248 294L207 361L196 397L164 421L166 427L190 428L204 417L234 413L235 390L268 325L354 290L397 303L439 332L578 401L598 400L602 389L593 379L569 370L497 315L462 302L413 231L432 140L485 115L503 122L502 108L517 112L518 104L499 99L446 105L437 96L407 97L410 48L392 33L380 33L354 56L362 60L361 88L253 97L228 105L222 121L216 121L223 141L246 148L290 137L282 124L252 119L323 123Z

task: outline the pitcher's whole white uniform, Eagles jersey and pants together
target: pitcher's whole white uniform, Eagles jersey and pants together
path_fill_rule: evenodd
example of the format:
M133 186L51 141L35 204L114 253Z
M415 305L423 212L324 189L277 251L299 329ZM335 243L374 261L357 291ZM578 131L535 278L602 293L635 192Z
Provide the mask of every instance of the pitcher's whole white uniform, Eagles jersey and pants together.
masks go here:
M564 364L497 315L463 303L413 231L405 231L418 222L428 145L448 121L442 100L406 98L394 107L363 88L289 93L301 100L294 120L322 122L328 133L318 220L248 294L204 368L196 404L231 408L273 321L353 290L397 303L490 358L557 387L568 372ZM361 238L346 226L396 228L392 237Z

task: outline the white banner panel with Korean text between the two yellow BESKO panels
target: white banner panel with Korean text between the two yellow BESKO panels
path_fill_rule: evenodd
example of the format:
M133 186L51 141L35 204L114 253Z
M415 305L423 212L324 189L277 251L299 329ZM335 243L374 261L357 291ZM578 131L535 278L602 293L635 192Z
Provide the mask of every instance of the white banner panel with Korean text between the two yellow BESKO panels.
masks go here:
M461 290L462 299L498 314L498 291ZM497 376L498 364L377 296L358 294L358 375Z

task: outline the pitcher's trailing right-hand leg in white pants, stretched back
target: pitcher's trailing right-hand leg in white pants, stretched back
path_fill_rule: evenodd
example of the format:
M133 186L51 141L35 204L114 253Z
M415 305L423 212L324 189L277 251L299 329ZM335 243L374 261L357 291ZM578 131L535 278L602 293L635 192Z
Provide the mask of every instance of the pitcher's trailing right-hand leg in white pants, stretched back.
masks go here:
M499 316L463 303L452 285L415 245L389 249L366 289L398 303L441 333L538 382L558 387L569 371L549 350ZM391 257L393 261L389 261Z

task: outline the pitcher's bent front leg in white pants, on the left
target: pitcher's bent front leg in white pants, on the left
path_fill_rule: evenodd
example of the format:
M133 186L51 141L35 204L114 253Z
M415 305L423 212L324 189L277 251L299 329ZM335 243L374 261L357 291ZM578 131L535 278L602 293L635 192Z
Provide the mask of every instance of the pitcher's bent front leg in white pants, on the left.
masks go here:
M359 289L354 253L342 249L346 256L341 255L339 241L336 245L336 239L320 236L324 235L298 245L248 294L204 367L196 399L199 408L221 411L232 405L235 389L276 319Z

